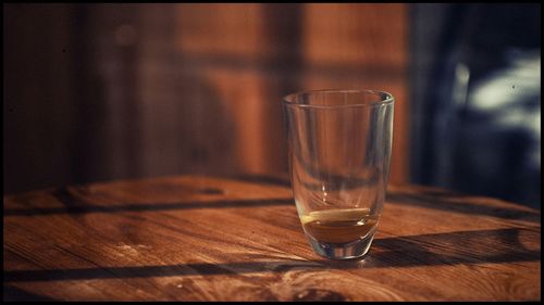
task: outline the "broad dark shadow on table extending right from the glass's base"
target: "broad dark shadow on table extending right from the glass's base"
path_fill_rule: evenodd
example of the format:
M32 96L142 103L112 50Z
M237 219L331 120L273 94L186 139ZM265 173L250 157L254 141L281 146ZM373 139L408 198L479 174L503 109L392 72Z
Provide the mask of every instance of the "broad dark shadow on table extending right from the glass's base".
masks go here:
M375 240L364 267L409 267L540 260L540 244L527 249L523 239L540 241L528 229L495 229L421 234ZM536 247L536 245L534 245Z

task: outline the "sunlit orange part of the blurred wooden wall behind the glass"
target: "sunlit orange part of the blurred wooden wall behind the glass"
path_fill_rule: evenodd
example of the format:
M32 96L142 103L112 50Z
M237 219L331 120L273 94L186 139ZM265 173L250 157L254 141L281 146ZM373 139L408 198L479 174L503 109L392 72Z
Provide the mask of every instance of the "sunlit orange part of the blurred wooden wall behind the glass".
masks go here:
M406 4L181 4L176 48L233 117L236 166L286 170L281 97L373 88L396 98L392 180L407 181Z

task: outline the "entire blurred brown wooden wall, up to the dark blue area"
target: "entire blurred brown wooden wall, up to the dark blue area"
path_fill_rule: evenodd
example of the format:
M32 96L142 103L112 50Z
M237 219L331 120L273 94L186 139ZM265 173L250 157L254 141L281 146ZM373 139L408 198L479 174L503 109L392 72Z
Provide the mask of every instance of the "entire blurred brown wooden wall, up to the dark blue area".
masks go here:
M396 97L391 180L408 180L407 4L10 5L4 113L26 112L4 114L8 191L285 174L281 99L323 88Z

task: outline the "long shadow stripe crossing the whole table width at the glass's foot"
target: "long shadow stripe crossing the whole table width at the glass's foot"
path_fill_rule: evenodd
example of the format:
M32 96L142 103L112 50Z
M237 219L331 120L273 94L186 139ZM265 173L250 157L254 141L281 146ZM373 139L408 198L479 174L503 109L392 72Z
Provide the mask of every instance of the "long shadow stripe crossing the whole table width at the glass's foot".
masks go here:
M460 231L376 239L364 259L349 260L270 260L240 263L191 263L165 266L97 267L52 270L4 270L7 282L172 277L190 275L239 275L307 270L388 268L413 266L453 266L458 264L540 262L539 249L526 249L520 233L539 234L528 229ZM539 239L540 240L540 239ZM489 249L499 250L486 255ZM447 253L447 254L446 254Z

